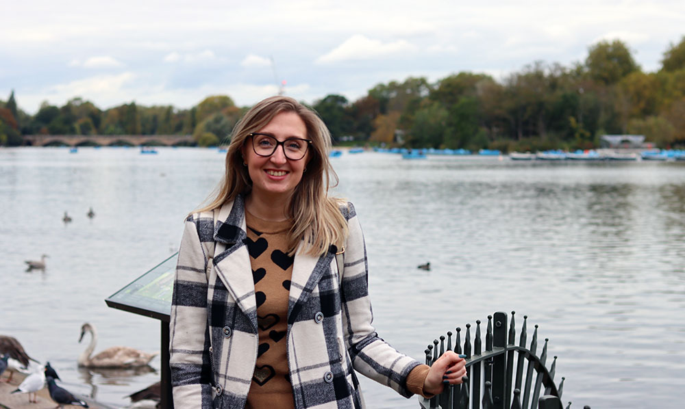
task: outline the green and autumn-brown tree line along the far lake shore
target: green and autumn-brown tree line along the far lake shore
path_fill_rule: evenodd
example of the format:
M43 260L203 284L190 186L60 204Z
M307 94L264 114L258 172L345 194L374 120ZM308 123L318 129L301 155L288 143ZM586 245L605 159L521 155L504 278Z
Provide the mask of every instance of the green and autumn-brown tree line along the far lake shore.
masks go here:
M534 62L501 81L459 72L431 83L409 77L371 88L348 101L329 94L311 105L334 142L411 148L587 149L603 134L640 134L661 148L685 146L685 36L663 53L660 69L644 72L621 40L588 47L571 66ZM200 146L224 144L247 107L225 95L190 109L135 102L99 109L73 98L43 103L31 116L14 91L0 101L0 144L23 135L192 134Z

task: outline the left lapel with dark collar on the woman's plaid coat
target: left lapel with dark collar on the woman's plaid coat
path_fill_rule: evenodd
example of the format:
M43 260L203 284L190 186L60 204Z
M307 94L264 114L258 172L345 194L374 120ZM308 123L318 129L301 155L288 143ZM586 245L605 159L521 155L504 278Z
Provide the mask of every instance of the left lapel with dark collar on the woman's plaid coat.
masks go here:
M214 222L214 268L238 307L257 328L257 302L252 265L245 245L245 205L242 196L219 209Z

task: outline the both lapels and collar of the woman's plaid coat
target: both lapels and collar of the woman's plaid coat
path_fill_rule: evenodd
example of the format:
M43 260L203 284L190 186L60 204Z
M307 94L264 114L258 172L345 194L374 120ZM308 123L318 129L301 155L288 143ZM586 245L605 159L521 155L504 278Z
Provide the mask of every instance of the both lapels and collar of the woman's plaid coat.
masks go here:
M214 241L218 243L214 254L216 272L256 331L257 303L254 278L245 243L245 198L242 195L236 197L233 202L226 203L214 214ZM295 322L303 304L307 302L323 274L329 271L335 257L335 250L320 257L303 254L303 246L304 242L300 244L292 263L288 324Z

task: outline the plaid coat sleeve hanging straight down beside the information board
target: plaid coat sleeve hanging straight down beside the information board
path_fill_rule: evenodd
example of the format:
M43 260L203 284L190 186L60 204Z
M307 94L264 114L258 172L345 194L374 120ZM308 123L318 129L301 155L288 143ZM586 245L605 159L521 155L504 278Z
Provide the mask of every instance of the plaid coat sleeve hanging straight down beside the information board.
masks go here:
M176 408L212 407L206 276L209 243L202 240L207 235L203 232L206 223L208 220L199 215L188 217L178 253L169 322L171 385Z

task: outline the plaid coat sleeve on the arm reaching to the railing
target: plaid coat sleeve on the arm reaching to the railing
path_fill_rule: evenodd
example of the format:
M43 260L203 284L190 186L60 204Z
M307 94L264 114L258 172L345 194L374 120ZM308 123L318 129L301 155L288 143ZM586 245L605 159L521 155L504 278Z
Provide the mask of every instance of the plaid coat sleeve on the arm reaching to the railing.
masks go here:
M369 301L369 278L364 235L351 203L343 208L348 218L349 236L345 243L345 267L341 283L343 332L345 346L354 369L395 389L404 397L412 393L407 377L419 362L398 352L383 341L371 325L373 313Z

